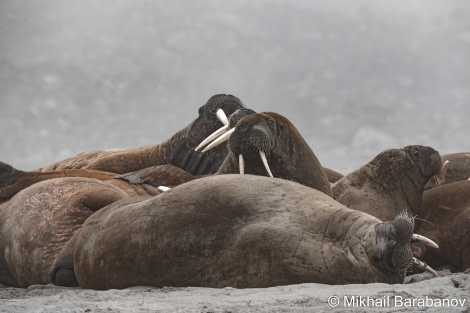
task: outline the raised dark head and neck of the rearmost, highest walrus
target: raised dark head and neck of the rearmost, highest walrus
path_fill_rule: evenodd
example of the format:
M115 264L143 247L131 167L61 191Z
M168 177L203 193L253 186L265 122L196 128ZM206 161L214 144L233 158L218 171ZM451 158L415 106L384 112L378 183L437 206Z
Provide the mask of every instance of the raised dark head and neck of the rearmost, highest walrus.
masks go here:
M213 174L222 164L227 150L223 147L201 154L194 149L210 134L228 123L227 116L244 108L240 99L218 94L199 108L199 116L181 132L174 145L170 162L193 175Z

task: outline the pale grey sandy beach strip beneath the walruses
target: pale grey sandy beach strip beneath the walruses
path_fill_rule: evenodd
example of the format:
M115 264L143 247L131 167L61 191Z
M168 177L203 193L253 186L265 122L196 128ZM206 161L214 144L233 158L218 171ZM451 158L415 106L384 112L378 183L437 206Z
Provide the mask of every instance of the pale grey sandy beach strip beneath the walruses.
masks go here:
M300 284L258 289L96 291L34 285L0 288L0 312L470 312L470 271L409 276L405 284Z

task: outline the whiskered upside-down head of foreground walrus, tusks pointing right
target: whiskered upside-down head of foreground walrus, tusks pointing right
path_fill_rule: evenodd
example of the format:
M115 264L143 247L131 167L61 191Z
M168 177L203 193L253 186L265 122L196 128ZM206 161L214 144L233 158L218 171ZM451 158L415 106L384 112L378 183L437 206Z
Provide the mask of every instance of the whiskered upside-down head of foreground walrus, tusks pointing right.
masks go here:
M412 250L417 243L435 248L438 247L437 244L426 237L413 234L413 229L414 219L406 212L397 215L394 221L376 224L372 232L376 245L368 247L368 254L374 266L398 273L403 279L413 266L437 276L432 268L418 260L417 257L422 256L422 251Z

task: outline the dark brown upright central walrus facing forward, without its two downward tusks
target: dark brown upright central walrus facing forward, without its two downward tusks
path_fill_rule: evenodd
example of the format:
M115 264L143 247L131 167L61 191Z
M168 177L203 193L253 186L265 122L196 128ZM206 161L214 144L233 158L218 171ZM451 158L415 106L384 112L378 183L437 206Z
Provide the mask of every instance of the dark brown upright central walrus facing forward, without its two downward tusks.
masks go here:
M267 176L259 152L263 151L274 177L298 182L331 196L331 186L320 161L297 128L286 117L264 112L244 116L228 140L229 153L218 174L245 173Z

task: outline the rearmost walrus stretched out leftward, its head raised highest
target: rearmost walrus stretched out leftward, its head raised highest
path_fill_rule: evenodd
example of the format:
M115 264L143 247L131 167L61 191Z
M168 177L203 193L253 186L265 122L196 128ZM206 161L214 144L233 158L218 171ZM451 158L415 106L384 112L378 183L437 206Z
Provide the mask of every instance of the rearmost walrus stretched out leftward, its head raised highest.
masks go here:
M235 96L214 95L199 108L198 118L160 144L83 152L38 170L93 169L124 174L155 165L172 164L194 175L214 173L225 158L226 150L223 147L209 154L196 155L192 152L204 138L227 123L226 115L243 107L244 104ZM186 153L191 153L191 157L187 157Z

